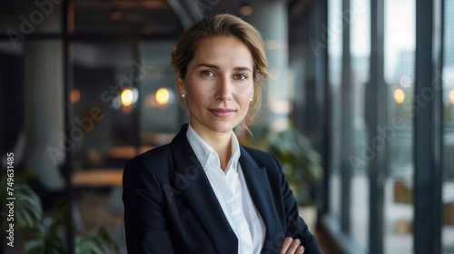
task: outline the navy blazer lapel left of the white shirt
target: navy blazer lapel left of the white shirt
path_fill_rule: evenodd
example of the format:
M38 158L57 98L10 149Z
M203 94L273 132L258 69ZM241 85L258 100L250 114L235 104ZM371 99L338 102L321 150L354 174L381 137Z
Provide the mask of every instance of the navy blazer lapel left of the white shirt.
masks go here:
M229 221L225 218L221 205L212 190L202 165L197 160L186 138L187 124L172 142L173 158L176 164L175 183L191 204L192 210L202 222L202 226L212 238L218 253L238 251L238 239Z

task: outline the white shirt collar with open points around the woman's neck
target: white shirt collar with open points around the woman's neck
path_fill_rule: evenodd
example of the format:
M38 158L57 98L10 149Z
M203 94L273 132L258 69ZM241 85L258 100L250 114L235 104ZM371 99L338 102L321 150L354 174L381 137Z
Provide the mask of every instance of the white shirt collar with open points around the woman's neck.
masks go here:
M217 166L221 167L218 153L214 151L212 147L207 142L205 142L197 132L194 131L194 129L192 129L191 124L188 125L186 137L191 144L192 150L194 151L197 160L199 160L199 162L202 164L203 170L205 170L210 158L216 160ZM230 168L233 168L235 171L237 170L240 155L240 143L238 142L238 138L236 137L235 133L232 132L232 158L227 165L226 172Z

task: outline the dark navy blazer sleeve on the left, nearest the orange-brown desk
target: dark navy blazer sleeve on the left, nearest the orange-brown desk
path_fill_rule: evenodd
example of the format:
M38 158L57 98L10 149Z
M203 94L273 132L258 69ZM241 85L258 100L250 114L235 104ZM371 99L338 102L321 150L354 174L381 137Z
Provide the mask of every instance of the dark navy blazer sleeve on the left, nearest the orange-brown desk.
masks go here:
M124 230L128 253L174 253L160 182L142 156L123 171Z

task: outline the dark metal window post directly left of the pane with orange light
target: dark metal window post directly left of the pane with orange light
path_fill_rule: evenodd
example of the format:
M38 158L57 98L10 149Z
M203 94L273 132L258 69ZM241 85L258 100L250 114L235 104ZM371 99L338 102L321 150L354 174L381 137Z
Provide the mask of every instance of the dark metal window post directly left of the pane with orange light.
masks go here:
M368 143L380 136L377 126L386 124L387 85L384 81L384 1L370 2L370 82L367 84L368 96L367 125ZM386 172L386 144L377 150L377 155L369 161L369 250L370 254L384 253L384 182Z

